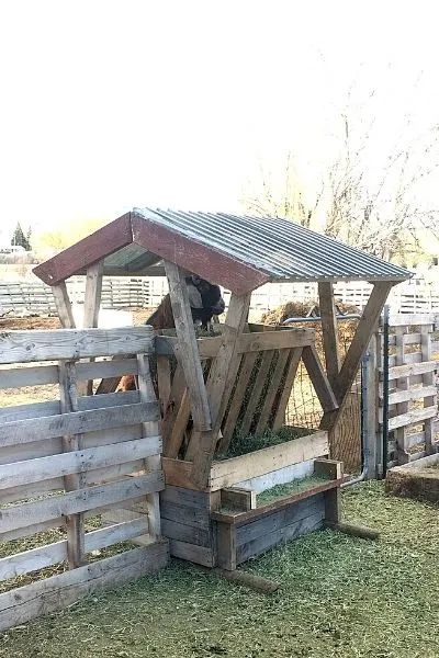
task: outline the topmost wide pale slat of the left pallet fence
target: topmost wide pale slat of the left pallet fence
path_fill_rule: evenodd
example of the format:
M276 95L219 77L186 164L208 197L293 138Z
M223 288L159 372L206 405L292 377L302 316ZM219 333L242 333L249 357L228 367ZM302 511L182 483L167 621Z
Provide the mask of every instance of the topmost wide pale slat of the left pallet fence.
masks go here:
M3 331L0 334L0 363L150 353L153 334L153 328L146 325L122 329Z

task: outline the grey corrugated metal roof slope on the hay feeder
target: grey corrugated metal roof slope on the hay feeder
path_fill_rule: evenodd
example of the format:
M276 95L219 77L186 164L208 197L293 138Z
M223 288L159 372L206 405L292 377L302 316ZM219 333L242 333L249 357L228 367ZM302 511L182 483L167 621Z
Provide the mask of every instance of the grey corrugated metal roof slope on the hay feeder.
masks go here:
M289 219L134 208L138 218L267 274L270 281L403 281L410 272Z

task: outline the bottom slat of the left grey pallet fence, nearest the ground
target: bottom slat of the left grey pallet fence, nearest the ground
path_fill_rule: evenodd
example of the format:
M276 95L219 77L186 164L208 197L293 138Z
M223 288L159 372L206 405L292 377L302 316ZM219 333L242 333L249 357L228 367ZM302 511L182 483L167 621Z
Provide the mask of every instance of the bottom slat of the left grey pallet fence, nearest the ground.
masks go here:
M4 592L0 594L0 631L65 608L92 591L120 587L167 564L167 542L156 542Z

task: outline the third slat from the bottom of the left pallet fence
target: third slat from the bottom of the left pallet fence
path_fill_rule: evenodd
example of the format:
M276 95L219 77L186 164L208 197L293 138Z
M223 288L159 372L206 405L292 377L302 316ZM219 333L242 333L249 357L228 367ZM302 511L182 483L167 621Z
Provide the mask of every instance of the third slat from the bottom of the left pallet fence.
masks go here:
M33 524L43 523L60 514L76 514L86 510L114 504L145 494L159 491L162 488L164 476L161 472L156 472L109 485L70 491L45 500L3 508L1 510L0 535L11 530L25 527L31 521Z

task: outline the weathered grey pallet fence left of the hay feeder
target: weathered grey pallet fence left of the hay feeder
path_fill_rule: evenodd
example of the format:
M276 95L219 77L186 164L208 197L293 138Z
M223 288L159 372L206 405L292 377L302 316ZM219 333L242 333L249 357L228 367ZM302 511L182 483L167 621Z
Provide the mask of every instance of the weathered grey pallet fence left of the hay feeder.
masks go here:
M46 400L0 409L0 631L166 566L153 345L149 327L1 334L0 388ZM139 390L78 393L127 372Z

